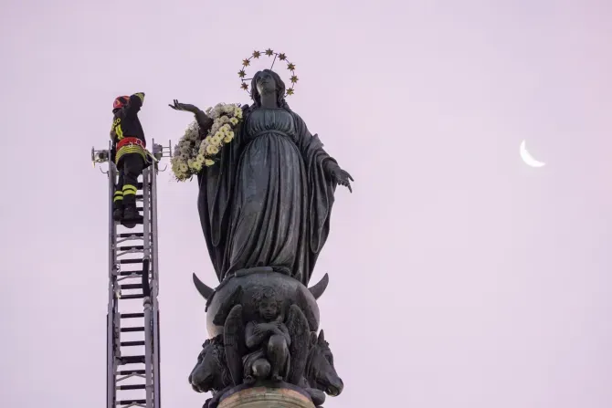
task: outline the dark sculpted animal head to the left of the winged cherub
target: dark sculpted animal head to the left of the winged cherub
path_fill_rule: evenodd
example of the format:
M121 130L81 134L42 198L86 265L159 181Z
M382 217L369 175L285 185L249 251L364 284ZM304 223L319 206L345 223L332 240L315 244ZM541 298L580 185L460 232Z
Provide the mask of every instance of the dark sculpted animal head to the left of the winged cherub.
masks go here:
M222 336L204 342L189 383L196 392L218 391L231 383Z

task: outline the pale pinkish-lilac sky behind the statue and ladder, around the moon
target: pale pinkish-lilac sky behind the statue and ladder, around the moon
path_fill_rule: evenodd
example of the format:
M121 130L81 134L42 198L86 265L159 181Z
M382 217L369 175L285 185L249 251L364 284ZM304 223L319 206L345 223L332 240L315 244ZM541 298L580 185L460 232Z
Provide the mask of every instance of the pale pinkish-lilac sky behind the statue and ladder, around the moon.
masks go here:
M612 406L608 1L4 1L3 405L103 406L112 99L148 140L248 102L240 61L287 53L290 106L355 179L313 281L345 390L328 408ZM263 67L262 67L263 68ZM282 72L283 78L289 78ZM526 139L540 169L519 157ZM159 177L164 406L216 284L195 183Z

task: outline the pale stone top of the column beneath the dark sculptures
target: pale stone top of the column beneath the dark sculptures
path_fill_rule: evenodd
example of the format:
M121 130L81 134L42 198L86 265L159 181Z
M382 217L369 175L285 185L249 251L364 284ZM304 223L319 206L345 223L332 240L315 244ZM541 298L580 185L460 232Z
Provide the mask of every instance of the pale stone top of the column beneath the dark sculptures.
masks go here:
M314 408L314 404L297 387L254 387L226 392L217 408Z

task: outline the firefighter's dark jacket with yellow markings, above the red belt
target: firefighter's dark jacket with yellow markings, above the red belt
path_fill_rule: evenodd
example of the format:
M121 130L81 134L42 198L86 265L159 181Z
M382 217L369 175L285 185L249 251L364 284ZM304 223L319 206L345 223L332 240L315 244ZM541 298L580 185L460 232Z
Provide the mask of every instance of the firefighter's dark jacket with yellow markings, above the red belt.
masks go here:
M123 108L113 111L111 140L113 141L113 150L116 150L116 163L119 162L121 156L127 153L139 153L146 160L144 151L146 140L141 121L138 119L138 112L141 110L143 99L142 94L134 94ZM124 144L126 141L130 142ZM138 144L134 144L132 141Z

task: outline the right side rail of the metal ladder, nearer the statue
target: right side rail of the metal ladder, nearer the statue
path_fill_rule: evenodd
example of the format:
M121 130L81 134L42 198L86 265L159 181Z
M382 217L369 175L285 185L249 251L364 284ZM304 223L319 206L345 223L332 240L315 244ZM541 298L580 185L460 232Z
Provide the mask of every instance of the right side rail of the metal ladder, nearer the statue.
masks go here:
M154 146L154 140L153 146ZM158 275L158 236L157 236L157 163L153 162L151 167L151 229L153 241L153 263L152 263L152 290L151 297L153 301L153 373L154 373L154 401L153 408L161 408L162 393L161 393L161 373L160 373L160 335L159 335L159 303L157 294L159 291L159 275Z

